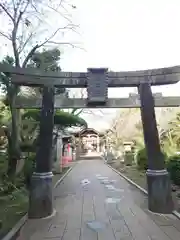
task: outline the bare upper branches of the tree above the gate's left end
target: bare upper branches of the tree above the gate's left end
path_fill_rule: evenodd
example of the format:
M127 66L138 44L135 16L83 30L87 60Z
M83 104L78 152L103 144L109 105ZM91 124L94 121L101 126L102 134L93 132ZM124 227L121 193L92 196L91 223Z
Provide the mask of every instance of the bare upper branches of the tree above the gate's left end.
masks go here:
M60 2L57 4L58 7L62 7L63 5L63 0L60 0ZM0 35L2 35L3 37L6 37L8 40L12 41L12 46L13 46L13 52L14 52L14 57L15 57L15 63L16 66L20 66L20 54L24 51L24 49L26 48L27 44L29 43L29 41L35 36L35 32L31 32L30 34L28 34L27 38L24 39L23 37L23 33L22 36L17 36L18 34L18 29L20 26L20 22L22 22L22 27L24 25L24 14L28 14L28 11L35 9L36 17L38 17L38 15L42 15L43 16L43 12L41 12L41 10L39 11L38 9L38 5L35 4L34 1L32 0L13 0L12 1L12 6L11 7L7 7L4 4L0 4L0 8L2 8L2 10L8 15L8 17L11 18L12 22L13 22L13 29L11 32L11 36L9 37L6 33L2 32L0 33ZM30 6L30 8L28 8ZM55 11L56 13L60 14L61 17L64 17L64 15L60 12L58 12L58 7L53 7L54 4L52 6L50 6L50 4L46 7L48 7L49 9ZM13 14L11 15L11 10L13 10ZM31 11L29 12L29 14L31 14ZM32 16L32 15L30 15ZM66 18L66 16L65 16ZM39 17L38 17L39 19ZM41 17L39 19L41 22L43 22L43 20L41 20ZM44 42L40 43L40 44L36 44L34 47L32 47L32 49L30 50L30 52L27 54L27 56L25 57L22 66L25 67L26 64L28 63L29 59L32 57L32 55L34 54L34 52L39 49L40 47L44 46L44 45L48 45L48 44L54 44L54 45L70 45L73 48L77 47L76 45L78 43L69 43L69 42L57 42L57 41L53 41L53 38L62 30L71 30L71 31L75 31L75 28L78 27L77 25L72 24L72 21L67 17L66 20L69 22L69 24L67 24L64 27L60 27L58 28L51 36L49 36L48 38L45 39ZM45 19L44 19L45 21ZM48 23L47 23L48 24ZM39 25L38 25L39 26ZM52 26L50 26L52 27ZM23 30L22 30L23 31ZM25 36L25 35L24 35ZM19 46L17 46L17 44Z

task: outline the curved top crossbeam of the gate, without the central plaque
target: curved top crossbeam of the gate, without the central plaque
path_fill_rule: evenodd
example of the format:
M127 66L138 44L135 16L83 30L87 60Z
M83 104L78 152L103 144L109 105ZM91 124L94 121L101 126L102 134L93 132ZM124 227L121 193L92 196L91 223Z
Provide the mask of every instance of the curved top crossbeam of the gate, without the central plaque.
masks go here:
M89 69L90 71L93 69ZM99 70L99 69L98 69ZM148 82L152 86L177 83L180 80L180 66L158 68L143 71L106 72L108 87L136 87ZM15 84L27 86L54 85L66 88L84 88L88 85L88 72L44 72L39 69L14 68L0 64L0 72L12 74Z

